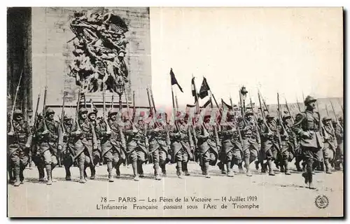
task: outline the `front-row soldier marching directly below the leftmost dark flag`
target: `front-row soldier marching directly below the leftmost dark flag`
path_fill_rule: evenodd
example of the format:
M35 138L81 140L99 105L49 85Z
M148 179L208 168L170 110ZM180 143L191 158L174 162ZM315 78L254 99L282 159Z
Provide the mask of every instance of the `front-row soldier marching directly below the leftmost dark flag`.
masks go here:
M180 118L179 118L180 117ZM193 159L193 135L190 125L185 121L185 116L181 118L181 112L178 113L179 120L175 120L174 125L169 130L170 149L172 151L172 163L176 162L176 174L182 178L183 172L190 176L187 169L188 160Z

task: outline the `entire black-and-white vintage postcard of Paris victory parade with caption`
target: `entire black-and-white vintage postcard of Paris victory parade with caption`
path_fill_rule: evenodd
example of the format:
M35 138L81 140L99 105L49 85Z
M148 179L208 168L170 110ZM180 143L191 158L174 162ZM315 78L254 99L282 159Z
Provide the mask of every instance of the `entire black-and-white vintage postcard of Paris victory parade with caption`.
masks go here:
M343 15L8 8L8 217L343 217Z

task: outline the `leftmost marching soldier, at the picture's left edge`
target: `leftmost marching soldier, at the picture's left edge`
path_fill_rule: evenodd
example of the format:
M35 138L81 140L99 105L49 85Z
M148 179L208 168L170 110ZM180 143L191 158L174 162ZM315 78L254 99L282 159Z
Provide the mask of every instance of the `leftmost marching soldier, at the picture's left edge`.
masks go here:
M22 111L15 110L13 118L13 132L11 132L11 125L8 123L8 158L10 172L13 171L14 174L14 186L20 186L20 183L23 183L25 179L23 171L29 161L31 129L29 124L23 120Z

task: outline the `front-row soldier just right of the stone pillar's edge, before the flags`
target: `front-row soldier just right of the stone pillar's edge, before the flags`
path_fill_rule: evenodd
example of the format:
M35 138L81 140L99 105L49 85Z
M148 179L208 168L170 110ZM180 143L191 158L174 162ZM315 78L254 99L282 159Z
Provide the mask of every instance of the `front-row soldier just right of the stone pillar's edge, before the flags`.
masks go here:
M162 174L167 175L165 165L169 162L170 137L167 127L167 114L159 113L158 119L155 121L153 128L149 128L148 141L150 144L149 150L153 158L153 168L155 179L161 180L159 168L162 169Z

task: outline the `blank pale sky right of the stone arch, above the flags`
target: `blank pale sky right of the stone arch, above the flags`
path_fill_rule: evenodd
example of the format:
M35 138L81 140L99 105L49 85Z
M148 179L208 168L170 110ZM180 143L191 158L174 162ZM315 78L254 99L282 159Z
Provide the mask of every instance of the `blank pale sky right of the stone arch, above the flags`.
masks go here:
M153 94L172 105L169 70L180 105L193 104L190 81L205 76L218 102L239 101L239 87L267 104L343 96L342 8L151 8ZM204 104L206 99L200 101Z

